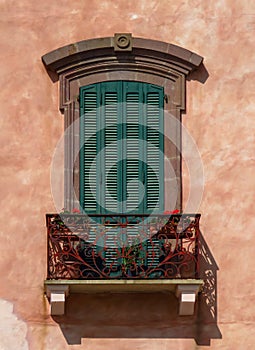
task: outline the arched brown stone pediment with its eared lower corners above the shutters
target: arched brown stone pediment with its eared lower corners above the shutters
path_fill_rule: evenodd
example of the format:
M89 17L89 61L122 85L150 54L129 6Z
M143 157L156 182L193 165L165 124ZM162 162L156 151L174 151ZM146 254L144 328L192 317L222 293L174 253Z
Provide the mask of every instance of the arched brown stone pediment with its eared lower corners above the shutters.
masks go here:
M109 80L164 86L171 104L183 110L186 77L201 65L203 57L173 44L119 33L58 48L42 61L51 77L60 80L61 110L75 100L80 86Z

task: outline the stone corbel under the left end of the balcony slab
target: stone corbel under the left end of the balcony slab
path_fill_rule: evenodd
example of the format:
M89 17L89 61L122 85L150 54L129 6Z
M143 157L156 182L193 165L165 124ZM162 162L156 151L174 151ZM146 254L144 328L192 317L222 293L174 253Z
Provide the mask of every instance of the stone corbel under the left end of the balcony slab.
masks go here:
M65 300L69 295L69 286L67 285L47 286L46 295L50 302L50 314L64 315Z

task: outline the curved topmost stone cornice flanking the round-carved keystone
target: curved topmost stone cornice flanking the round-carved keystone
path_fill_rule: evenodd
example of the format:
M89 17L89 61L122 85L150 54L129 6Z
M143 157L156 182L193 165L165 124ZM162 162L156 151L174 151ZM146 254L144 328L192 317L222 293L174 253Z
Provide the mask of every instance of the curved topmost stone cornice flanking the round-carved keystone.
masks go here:
M125 35L130 34L123 34ZM143 38L132 38L128 50L116 50L116 34L115 37L83 40L60 47L42 56L42 61L47 70L59 76L95 58L108 61L110 65L114 58L134 64L149 60L185 75L197 69L203 61L203 57L177 45Z

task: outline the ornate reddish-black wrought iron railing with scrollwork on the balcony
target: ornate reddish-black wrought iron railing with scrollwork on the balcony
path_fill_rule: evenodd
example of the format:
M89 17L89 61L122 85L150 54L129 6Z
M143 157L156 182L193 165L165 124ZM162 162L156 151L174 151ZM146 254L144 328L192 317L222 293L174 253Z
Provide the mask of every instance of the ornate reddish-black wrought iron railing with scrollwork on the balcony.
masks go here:
M47 214L48 279L198 278L200 214Z

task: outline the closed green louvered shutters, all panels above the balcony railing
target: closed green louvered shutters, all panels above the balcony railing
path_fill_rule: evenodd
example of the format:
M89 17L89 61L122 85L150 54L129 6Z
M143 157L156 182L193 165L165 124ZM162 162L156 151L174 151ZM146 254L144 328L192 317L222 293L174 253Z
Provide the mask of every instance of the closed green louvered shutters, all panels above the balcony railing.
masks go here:
M163 210L163 96L163 88L141 82L81 88L80 201L87 213Z

